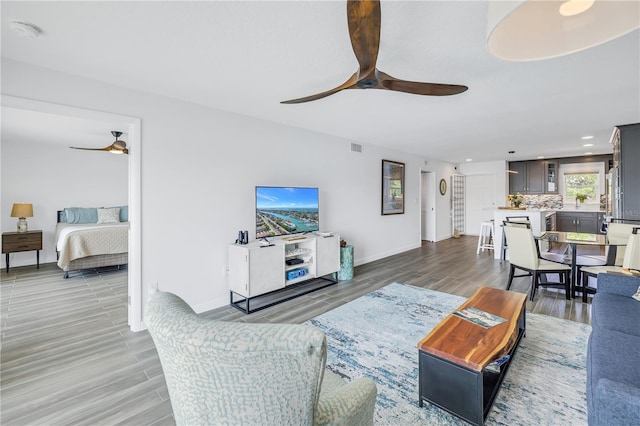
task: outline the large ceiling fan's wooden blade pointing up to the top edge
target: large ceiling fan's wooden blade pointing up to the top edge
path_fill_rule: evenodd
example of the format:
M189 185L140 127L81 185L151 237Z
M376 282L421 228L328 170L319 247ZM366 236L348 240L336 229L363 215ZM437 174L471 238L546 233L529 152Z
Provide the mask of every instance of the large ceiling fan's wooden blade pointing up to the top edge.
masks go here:
M373 73L380 49L380 2L350 0L347 2L347 20L351 47L360 64L359 77Z

